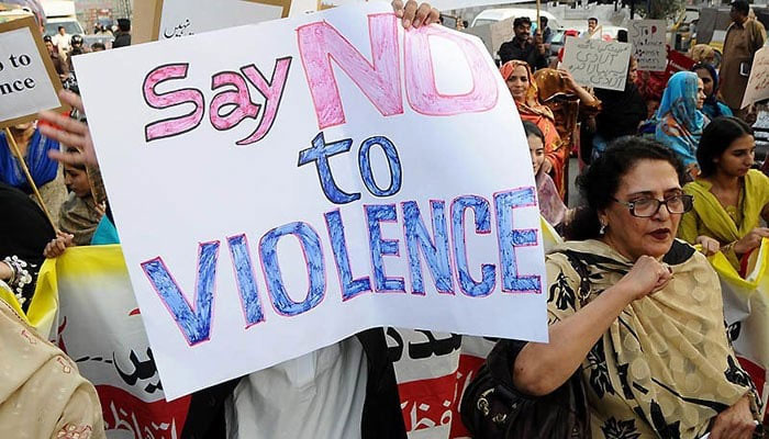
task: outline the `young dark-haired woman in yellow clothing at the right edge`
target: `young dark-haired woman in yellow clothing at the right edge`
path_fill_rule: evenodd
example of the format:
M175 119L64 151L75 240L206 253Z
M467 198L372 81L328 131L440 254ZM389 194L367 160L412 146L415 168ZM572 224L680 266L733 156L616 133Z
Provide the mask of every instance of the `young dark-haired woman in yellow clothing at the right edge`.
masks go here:
M717 117L702 134L696 160L702 175L683 190L694 196L694 210L683 215L679 237L689 243L717 240L709 249L721 251L735 269L740 260L769 237L759 227L769 219L769 178L754 164L753 128L736 117ZM706 245L704 245L706 247Z

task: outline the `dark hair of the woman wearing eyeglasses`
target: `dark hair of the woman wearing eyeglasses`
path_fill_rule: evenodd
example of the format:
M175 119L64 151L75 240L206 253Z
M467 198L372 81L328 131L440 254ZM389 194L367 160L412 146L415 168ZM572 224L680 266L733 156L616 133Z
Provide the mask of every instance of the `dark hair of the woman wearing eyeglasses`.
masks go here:
M599 211L612 203L622 178L640 160L660 160L670 164L678 181L683 185L686 171L676 155L662 144L643 137L620 137L586 171L577 178L577 187L582 195L582 205L577 207L573 219L565 230L570 240L594 239L599 237L601 223Z

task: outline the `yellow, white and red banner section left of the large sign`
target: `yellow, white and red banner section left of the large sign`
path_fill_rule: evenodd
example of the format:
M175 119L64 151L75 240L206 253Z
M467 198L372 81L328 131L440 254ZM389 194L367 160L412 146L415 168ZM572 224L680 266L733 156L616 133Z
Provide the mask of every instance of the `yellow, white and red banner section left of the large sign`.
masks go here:
M38 295L59 299L54 338L96 386L107 437L180 438L190 398L164 398L120 246L74 247L46 260Z

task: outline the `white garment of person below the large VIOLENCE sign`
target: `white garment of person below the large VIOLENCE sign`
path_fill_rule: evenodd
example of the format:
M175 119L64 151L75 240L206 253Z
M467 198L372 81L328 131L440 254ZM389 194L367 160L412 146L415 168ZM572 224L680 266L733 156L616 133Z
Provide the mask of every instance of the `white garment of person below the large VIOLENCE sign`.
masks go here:
M360 439L366 354L356 337L244 376L225 403L229 439Z

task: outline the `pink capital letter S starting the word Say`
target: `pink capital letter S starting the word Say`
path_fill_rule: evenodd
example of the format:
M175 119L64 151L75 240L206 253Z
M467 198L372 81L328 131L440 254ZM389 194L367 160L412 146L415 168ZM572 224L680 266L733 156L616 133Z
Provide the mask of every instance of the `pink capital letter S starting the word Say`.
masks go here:
M158 138L171 137L194 130L203 120L204 99L203 93L197 89L179 89L166 93L157 93L155 88L171 79L187 78L189 64L170 64L157 67L144 79L144 100L153 109L164 110L176 105L191 103L194 105L191 112L179 116L153 122L145 126L144 133L147 142Z

